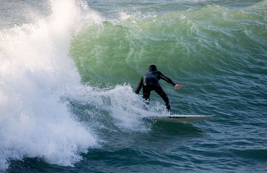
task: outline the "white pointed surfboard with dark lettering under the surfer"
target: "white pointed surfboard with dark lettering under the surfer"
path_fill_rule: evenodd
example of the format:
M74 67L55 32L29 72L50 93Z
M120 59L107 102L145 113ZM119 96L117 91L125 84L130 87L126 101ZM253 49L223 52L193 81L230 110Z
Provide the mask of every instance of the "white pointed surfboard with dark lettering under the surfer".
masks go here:
M193 123L203 121L205 119L209 119L214 117L214 115L169 115L169 114L162 114L162 115L150 115L147 117L143 117L143 120L152 119L157 121L164 121L164 122L175 122L175 123Z

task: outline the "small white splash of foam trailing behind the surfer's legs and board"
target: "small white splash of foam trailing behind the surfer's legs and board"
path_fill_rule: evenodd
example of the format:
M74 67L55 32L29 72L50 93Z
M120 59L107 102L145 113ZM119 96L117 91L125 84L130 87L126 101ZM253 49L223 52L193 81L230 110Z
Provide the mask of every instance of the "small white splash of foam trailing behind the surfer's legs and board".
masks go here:
M131 86L127 84L117 85L114 89L99 94L110 99L109 109L111 116L115 119L115 125L126 132L147 132L150 128L140 117L167 113L165 106L158 102L151 103L151 106L145 106L143 99L136 95Z

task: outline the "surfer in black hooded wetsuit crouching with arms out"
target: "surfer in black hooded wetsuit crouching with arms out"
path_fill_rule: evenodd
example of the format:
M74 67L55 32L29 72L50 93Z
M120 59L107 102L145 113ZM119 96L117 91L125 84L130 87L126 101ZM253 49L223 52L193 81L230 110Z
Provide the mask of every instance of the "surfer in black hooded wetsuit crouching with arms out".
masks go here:
M143 87L143 98L145 100L145 103L148 105L150 92L154 90L164 100L166 109L171 113L170 100L158 81L160 79L163 79L164 81L175 86L177 89L181 89L182 86L175 84L170 78L164 76L160 71L158 71L158 68L155 65L150 65L148 70L149 71L144 73L142 78L140 79L135 93L139 94L141 88Z

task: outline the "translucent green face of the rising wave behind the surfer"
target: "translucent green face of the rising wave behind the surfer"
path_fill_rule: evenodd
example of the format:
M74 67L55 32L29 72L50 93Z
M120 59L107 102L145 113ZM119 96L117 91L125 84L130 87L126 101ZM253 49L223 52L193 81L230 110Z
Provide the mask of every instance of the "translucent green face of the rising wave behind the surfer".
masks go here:
M198 73L260 73L266 6L262 1L243 10L207 6L147 18L124 16L84 26L70 53L84 82L135 86L151 64L177 81Z

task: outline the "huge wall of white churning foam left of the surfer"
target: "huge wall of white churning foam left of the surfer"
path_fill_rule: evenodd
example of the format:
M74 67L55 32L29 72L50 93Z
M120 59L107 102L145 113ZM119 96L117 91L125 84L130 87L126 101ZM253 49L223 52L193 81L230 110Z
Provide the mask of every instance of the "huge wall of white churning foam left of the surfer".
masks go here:
M73 166L80 152L96 145L94 135L71 118L67 102L59 101L83 88L68 50L88 7L83 1L50 2L49 17L0 31L0 170L23 157Z

